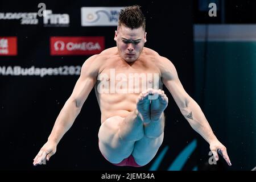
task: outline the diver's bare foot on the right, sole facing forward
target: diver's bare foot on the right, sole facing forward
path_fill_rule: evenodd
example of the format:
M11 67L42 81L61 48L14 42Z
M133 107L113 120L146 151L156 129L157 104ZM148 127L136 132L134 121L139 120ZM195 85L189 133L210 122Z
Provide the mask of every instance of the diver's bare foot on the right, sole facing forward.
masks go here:
M159 121L164 109L166 109L168 105L168 97L166 94L164 94L164 91L160 89L154 90L153 94L154 96L158 95L158 97L156 97L154 100L151 100L150 118L151 121Z

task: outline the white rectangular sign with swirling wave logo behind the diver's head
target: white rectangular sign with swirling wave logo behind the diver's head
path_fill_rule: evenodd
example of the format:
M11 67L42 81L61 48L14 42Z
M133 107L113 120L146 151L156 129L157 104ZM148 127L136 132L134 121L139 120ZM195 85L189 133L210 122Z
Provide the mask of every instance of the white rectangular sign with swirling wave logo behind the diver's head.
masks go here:
M123 7L81 7L82 26L117 26Z

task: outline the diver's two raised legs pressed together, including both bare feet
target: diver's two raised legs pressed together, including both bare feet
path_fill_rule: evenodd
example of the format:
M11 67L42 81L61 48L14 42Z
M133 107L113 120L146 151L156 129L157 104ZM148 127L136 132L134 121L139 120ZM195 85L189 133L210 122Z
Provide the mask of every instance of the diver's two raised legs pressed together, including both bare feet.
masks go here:
M158 99L149 100L152 94L158 94ZM102 155L114 164L130 155L139 166L150 162L163 142L163 111L167 104L162 90L148 89L140 94L137 109L126 118L106 119L98 133Z

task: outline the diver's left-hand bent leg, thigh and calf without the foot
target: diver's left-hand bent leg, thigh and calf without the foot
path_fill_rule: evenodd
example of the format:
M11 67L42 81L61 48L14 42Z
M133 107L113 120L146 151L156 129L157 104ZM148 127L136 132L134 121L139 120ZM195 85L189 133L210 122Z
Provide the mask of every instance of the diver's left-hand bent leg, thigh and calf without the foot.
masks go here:
M100 151L109 162L120 163L131 155L134 143L143 136L143 122L136 110L126 118L108 118L98 133Z

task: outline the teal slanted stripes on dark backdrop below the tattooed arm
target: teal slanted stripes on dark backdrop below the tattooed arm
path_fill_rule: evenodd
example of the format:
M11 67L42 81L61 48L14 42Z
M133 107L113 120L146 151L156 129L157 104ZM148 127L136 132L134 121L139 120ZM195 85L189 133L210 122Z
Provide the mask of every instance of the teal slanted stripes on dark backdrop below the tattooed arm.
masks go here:
M189 159L189 156L193 153L193 151L196 149L196 139L194 139L191 143L189 143L181 152L179 155L176 156L174 161L170 164L167 171L181 171L184 167L185 163ZM163 150L160 152L158 157L155 159L154 163L150 167L150 171L157 171L160 163L163 161L164 156L166 155L168 151L168 146L164 147ZM192 171L197 171L197 166L193 167Z

